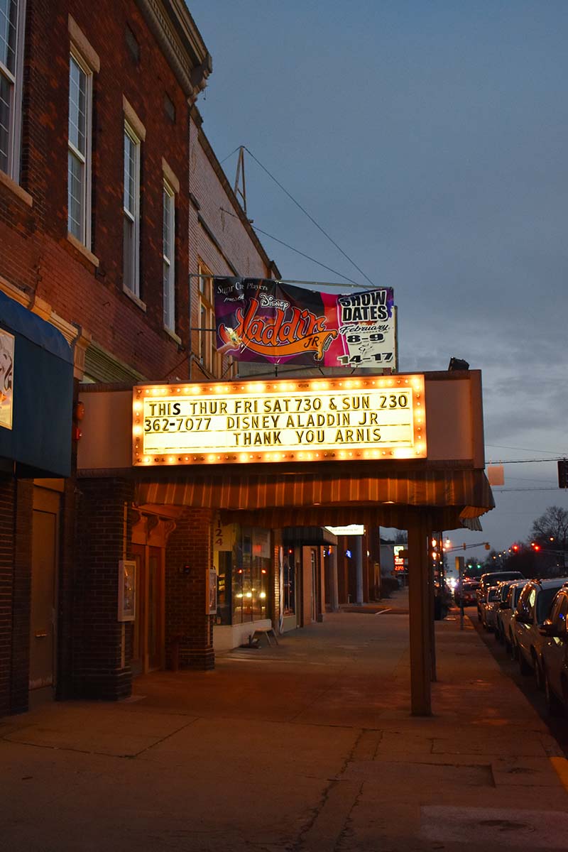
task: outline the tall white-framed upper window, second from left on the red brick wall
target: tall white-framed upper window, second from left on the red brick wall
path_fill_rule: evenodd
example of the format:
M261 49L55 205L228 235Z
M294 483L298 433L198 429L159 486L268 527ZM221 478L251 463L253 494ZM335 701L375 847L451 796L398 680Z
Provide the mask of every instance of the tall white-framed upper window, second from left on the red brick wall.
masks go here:
M87 248L90 248L92 104L93 75L73 49L69 58L67 230Z

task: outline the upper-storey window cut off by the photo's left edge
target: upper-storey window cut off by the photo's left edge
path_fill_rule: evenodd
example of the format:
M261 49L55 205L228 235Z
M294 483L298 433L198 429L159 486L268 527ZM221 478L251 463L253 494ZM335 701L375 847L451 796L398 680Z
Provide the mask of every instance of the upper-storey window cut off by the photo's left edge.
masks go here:
M24 0L0 0L0 169L20 176Z

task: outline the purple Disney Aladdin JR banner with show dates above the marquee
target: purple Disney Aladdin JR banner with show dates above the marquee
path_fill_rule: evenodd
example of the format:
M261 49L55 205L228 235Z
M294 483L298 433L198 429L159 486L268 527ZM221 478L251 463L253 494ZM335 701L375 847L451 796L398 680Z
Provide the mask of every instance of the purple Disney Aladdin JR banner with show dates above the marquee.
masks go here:
M396 370L392 287L345 295L216 278L217 349L236 360Z

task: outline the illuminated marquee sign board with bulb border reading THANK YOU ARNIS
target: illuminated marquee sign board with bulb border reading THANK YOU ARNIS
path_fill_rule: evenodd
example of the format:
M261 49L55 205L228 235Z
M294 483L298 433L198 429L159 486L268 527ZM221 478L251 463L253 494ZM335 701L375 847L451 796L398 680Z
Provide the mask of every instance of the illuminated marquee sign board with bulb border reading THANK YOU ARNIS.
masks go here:
M143 385L135 465L425 458L423 376Z

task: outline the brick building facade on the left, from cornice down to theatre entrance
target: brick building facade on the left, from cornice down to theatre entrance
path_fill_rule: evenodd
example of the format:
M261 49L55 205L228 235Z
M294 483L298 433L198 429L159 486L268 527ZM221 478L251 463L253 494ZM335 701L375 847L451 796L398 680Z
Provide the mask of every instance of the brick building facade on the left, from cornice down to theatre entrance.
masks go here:
M278 276L204 135L196 101L211 57L183 3L8 7L0 291L72 353L74 421L55 435L72 475L49 454L26 467L7 453L0 466L0 715L26 710L30 685L117 699L133 671L172 654L212 665L210 513L137 513L128 475L77 475L78 389L221 376L209 274ZM0 316L8 341L10 328ZM14 361L17 378L17 349ZM181 584L190 557L204 571ZM128 558L145 585L138 621L121 623L117 566Z

